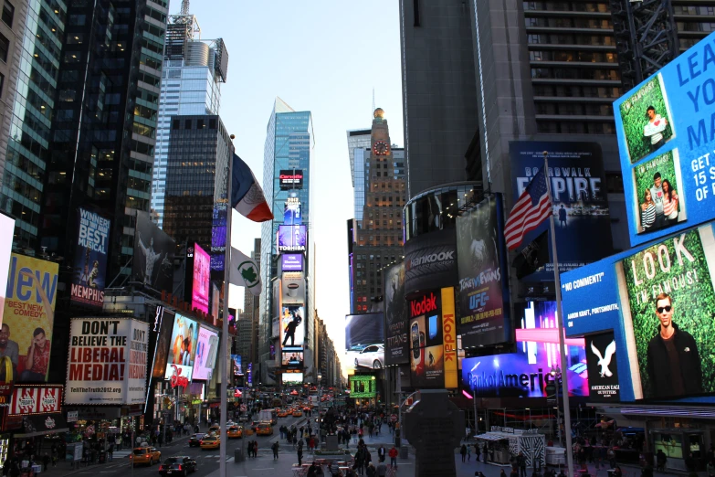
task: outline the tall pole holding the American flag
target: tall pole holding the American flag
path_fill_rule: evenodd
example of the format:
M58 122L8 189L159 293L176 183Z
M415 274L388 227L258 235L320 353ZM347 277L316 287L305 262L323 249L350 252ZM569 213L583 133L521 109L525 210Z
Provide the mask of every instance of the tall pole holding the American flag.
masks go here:
M543 152L543 174L546 176L546 191L549 194L549 200L553 200L552 196L552 180L549 175L549 152ZM571 406L569 405L569 379L568 379L568 362L566 361L566 345L564 344L563 334L563 308L561 302L561 276L559 274L559 256L556 252L556 228L553 222L553 208L549 214L549 224L551 227L552 236L552 254L553 254L553 281L556 289L556 329L559 331L559 350L561 351L561 386L563 391L563 433L566 436L566 464L568 467L568 476L573 477L573 444L571 440ZM558 393L559 390L557 389ZM558 427L561 422L558 423Z

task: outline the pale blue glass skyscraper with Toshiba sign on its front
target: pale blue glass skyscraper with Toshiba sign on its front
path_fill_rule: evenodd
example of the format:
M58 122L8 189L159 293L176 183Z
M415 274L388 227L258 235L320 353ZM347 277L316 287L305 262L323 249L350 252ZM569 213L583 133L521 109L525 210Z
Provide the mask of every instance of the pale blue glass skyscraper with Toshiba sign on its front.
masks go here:
M274 373L280 375L279 350L282 345L280 337L285 333L285 327L279 326L280 291L274 290L273 281L283 278L279 276L279 255L284 251L292 251L303 256L300 272L302 279L295 276L293 280L304 285L302 299L304 313L299 326L304 333L304 363L306 376L313 372L313 325L315 315L315 253L312 246L312 223L310 221L310 171L312 169L312 149L314 145L313 127L310 111L294 111L286 102L276 98L273 111L268 120L266 143L263 156L263 190L268 197L273 216L270 222L264 222L261 228L261 274L264 290L260 295L260 329L258 332L259 361L261 376L264 383L272 384ZM280 228L281 226L287 228ZM305 243L297 244L294 239ZM291 244L287 243L291 242ZM298 306L300 299L293 300ZM280 310L279 310L280 309ZM298 309L285 310L287 313L299 313ZM275 321L274 321L275 318ZM284 317L285 319L285 317ZM274 325L275 323L275 325ZM273 361L271 346L277 355Z

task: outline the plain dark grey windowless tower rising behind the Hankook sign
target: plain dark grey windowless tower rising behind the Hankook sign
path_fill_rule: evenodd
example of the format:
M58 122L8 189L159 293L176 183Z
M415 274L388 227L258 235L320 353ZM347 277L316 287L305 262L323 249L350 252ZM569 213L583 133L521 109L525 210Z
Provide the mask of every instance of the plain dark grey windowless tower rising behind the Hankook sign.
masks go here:
M408 198L467 179L478 128L470 3L400 0Z

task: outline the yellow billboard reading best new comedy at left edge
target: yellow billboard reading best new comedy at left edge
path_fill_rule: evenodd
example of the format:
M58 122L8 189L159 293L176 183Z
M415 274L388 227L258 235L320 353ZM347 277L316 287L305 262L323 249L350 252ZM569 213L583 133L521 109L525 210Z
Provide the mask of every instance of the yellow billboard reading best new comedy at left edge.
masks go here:
M47 381L58 264L13 253L5 289L3 333L5 355L15 366L16 381Z

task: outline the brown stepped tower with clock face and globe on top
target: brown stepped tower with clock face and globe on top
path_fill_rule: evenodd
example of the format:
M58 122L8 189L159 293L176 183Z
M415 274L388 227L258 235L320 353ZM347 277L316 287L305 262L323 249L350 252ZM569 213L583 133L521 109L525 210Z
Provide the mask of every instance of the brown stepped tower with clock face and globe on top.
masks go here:
M377 303L382 300L383 274L380 269L404 255L405 151L391 145L390 130L382 109L374 111L370 146L354 158L355 170L360 165L364 171L364 206L363 219L353 222L351 310L366 313L379 307ZM358 164L361 158L363 162ZM357 182L356 175L356 195Z

